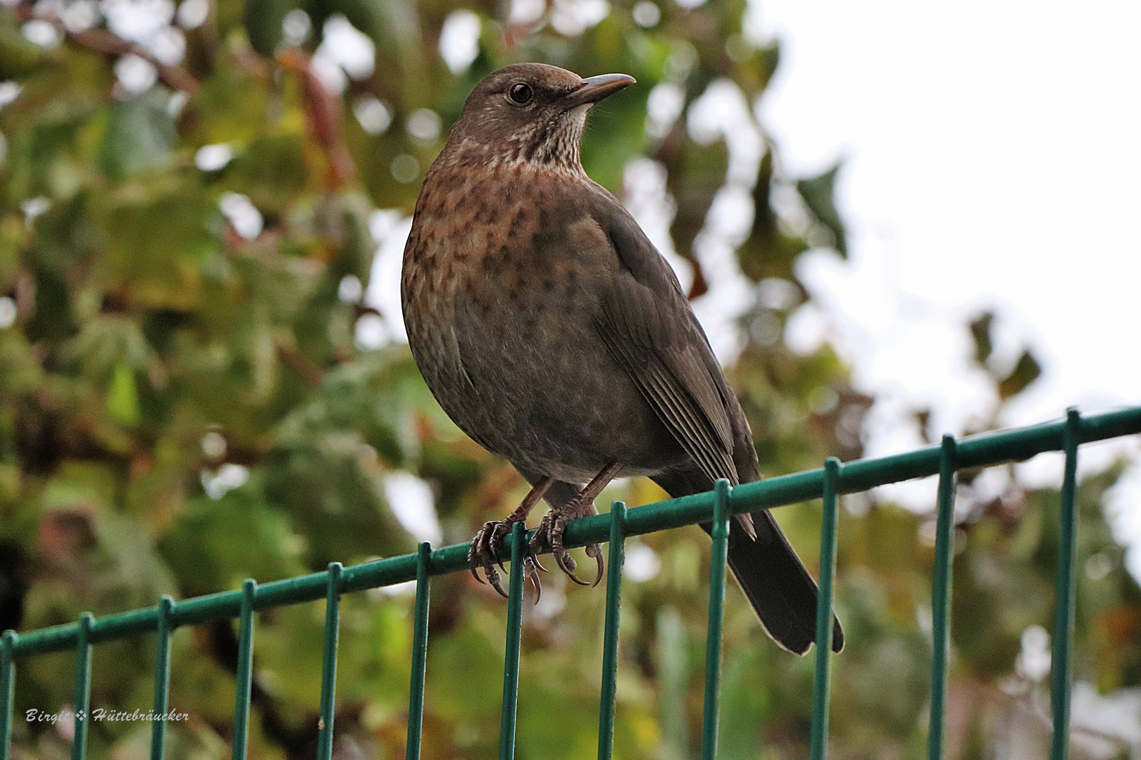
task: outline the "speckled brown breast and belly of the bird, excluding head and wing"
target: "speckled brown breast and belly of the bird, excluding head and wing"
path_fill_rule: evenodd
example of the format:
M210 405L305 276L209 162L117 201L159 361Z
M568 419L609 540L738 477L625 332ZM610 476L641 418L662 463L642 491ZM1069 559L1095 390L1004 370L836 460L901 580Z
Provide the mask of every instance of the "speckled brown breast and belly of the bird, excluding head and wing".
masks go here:
M654 471L667 435L596 330L617 262L576 189L507 170L430 177L402 277L412 352L448 416L572 482L615 457Z

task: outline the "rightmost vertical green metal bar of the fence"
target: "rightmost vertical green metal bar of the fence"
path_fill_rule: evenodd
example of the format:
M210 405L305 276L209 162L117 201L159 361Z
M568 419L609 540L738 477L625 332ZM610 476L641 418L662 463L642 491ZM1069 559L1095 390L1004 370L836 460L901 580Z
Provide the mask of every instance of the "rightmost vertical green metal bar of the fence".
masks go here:
M1077 545L1078 510L1077 444L1082 416L1077 409L1066 411L1066 431L1062 450L1066 452L1066 474L1061 493L1061 533L1058 539L1058 590L1054 607L1054 651L1051 657L1050 702L1053 708L1054 736L1051 760L1069 758L1070 657L1074 654L1074 586L1076 582L1074 554Z

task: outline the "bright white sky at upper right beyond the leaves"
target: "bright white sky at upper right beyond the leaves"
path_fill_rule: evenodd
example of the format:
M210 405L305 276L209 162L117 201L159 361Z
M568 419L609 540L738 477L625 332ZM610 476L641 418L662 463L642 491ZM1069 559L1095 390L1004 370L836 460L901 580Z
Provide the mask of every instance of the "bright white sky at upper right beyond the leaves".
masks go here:
M979 407L965 332L1001 316L1045 365L1011 424L1141 402L1141 6L764 0L783 42L761 116L794 174L845 156L851 260L803 275L858 382Z

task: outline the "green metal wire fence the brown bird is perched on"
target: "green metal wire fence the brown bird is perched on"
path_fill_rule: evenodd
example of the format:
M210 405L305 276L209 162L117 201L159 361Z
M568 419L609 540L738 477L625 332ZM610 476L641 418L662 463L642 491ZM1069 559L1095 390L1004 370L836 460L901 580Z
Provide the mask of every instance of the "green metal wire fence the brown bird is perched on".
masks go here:
M712 522L713 554L710 574L709 637L705 657L705 706L702 729L702 758L717 754L718 684L721 670L721 613L725 602L726 550L729 520L755 509L770 509L823 498L820 532L820 595L816 629L816 680L814 687L810 757L823 760L828 735L828 676L831 656L832 589L835 575L836 513L839 496L876 485L929 475L939 476L936 565L933 583L933 659L931 664L931 721L929 753L942 757L944 705L947 693L947 651L950 632L952 533L954 529L955 473L966 467L985 467L1028 459L1044 451L1063 451L1065 476L1061 490L1061 521L1057 614L1053 636L1052 760L1069 755L1070 654L1074 631L1074 553L1077 528L1075 481L1077 449L1081 443L1141 433L1141 408L1082 417L1071 409L1065 420L972 435L962 440L947 435L941 446L879 459L841 464L828 459L820 469L771 477L730 489L720 481L707 493L662 501L628 510L621 501L609 514L577 520L566 531L567 546L609 541L610 570L606 581L606 623L602 644L601 705L599 708L598 757L610 757L614 728L615 677L618 654L618 614L622 593L623 544L626 537ZM508 594L507 656L503 668L503 717L500 725L500 758L515 755L515 722L519 676L519 635L523 626L523 551L526 533L516 524L504 545L511 550ZM317 759L329 760L333 747L333 705L337 683L338 606L340 595L369 588L416 581L413 620L412 687L408 697L407 758L420 757L420 730L424 698L424 668L428 647L428 587L431 575L467 570L468 545L432 549L421 544L419 551L379 559L353 567L333 563L326 572L291 578L258 586L246 580L241 590L175 602L163 597L154 607L133 610L96 620L83 613L75 623L17 635L5 631L0 645L0 760L8 760L11 743L16 663L25 657L74 648L75 722L72 760L82 760L87 749L87 725L91 686L91 646L100 641L140 634L157 634L154 713L168 710L170 677L170 635L179 626L238 619L237 693L234 702L234 760L245 758L250 713L250 685L253 664L253 613L325 598L324 665L321 688L321 722ZM151 757L161 760L165 722L155 720Z

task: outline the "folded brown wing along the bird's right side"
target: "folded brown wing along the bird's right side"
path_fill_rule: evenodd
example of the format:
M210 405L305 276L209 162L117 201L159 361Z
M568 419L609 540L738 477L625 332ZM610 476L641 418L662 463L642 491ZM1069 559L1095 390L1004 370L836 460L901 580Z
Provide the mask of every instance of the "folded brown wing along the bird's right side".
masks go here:
M600 299L599 335L702 472L738 483L736 398L677 276L614 196L598 188L591 213L620 262Z

